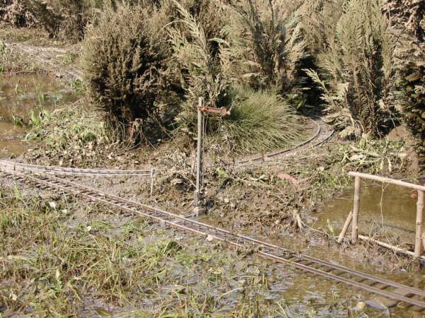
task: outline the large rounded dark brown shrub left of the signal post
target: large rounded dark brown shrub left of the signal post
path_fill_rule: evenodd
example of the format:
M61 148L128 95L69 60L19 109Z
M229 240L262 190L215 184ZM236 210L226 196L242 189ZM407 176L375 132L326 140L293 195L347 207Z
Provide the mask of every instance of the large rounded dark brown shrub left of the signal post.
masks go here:
M164 20L154 7L106 8L86 34L83 68L89 95L125 139L152 136L166 120L179 87L167 68L171 57Z

